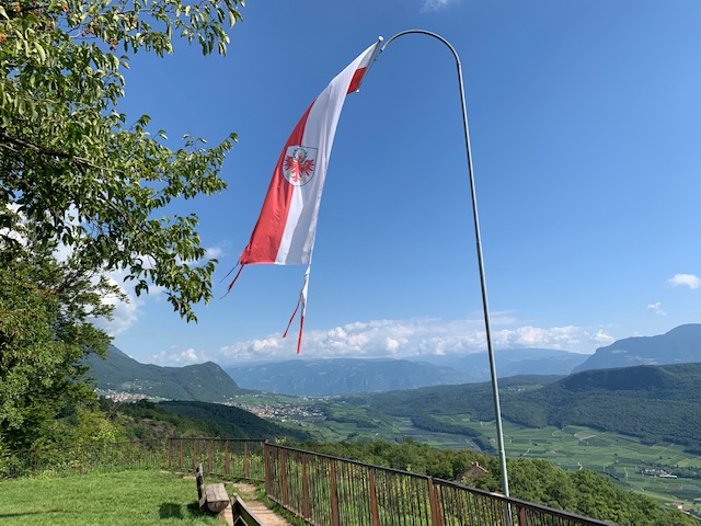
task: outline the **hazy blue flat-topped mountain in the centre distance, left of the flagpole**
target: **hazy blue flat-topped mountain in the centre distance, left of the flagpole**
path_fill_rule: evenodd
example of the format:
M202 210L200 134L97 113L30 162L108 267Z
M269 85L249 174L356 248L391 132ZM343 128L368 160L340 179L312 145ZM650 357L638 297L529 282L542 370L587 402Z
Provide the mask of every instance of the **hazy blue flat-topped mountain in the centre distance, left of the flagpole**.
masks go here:
M298 396L333 396L460 384L464 376L448 367L406 359L294 359L228 367L243 388Z

